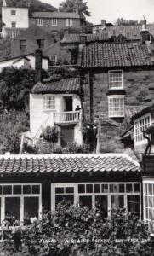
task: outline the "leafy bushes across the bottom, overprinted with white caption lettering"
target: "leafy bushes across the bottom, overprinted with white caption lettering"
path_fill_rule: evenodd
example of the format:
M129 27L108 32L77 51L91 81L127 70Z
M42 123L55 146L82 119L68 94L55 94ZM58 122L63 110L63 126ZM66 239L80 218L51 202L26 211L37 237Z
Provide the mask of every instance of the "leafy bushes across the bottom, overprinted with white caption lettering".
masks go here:
M66 201L25 229L6 229L5 237L4 255L154 255L147 226L134 214L112 209L105 218L100 206L90 210Z

